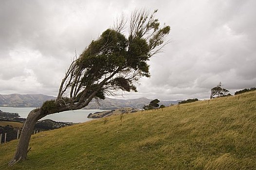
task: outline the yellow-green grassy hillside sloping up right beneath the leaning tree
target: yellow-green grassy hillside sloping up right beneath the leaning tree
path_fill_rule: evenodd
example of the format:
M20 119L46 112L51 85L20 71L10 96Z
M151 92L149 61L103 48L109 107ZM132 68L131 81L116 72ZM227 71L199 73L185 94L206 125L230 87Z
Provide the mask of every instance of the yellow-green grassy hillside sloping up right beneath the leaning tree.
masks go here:
M255 170L256 92L97 119L33 135L29 159L1 170Z

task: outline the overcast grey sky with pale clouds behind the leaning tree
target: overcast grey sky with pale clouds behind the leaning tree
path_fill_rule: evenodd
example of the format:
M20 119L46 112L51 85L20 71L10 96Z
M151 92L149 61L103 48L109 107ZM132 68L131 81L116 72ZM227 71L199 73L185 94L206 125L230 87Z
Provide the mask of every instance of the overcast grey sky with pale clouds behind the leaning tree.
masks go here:
M75 50L122 13L159 9L170 25L151 78L121 99L205 99L219 82L232 94L256 86L256 0L0 0L0 94L57 95Z

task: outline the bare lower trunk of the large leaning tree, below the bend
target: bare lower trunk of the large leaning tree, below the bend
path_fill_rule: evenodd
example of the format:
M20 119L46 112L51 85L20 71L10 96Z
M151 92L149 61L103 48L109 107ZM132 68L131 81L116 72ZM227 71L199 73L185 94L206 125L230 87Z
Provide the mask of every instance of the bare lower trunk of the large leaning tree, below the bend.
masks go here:
M28 146L32 132L34 131L37 120L41 118L40 109L34 109L28 114L21 131L16 153L13 159L9 162L9 166L27 158Z

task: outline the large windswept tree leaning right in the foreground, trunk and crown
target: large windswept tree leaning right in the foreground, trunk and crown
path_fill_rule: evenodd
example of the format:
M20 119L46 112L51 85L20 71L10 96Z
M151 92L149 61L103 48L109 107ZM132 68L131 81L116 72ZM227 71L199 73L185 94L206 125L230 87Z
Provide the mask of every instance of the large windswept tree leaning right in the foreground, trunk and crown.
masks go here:
M44 102L28 114L17 151L9 165L27 158L37 120L50 114L84 108L93 98L105 99L105 95L114 95L116 90L136 91L134 83L141 77L150 76L147 61L166 45L165 37L170 32L169 26L160 27L156 12L149 14L145 10L136 10L129 22L122 17L74 58L56 99Z

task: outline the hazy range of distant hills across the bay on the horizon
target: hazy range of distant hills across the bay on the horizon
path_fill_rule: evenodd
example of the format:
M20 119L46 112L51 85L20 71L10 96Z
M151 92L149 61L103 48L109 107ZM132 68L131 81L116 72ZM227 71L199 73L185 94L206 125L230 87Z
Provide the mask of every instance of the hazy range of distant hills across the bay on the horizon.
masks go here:
M8 107L40 107L43 102L48 100L54 100L54 96L46 96L43 94L9 94L9 95L0 95L0 106ZM149 104L152 101L147 98L139 99L110 99L106 98L105 100L100 100L96 102L93 100L89 103L86 109L102 109L102 110L112 110L122 107L134 107L141 109L144 105ZM165 106L176 104L180 101L160 101L160 105L164 104Z

